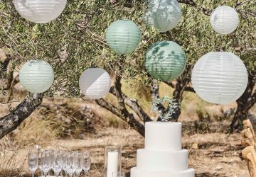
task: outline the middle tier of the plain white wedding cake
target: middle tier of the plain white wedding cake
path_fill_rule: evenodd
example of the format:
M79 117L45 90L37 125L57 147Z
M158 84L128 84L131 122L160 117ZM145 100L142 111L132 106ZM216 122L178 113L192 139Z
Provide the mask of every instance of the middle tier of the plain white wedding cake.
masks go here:
M188 150L137 150L137 168L148 171L181 171L188 169Z

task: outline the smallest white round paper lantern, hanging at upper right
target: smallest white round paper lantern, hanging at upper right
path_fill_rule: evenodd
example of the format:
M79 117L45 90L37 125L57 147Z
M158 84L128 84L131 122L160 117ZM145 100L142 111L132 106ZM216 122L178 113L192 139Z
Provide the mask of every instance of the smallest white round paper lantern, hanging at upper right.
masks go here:
M238 13L230 6L219 6L210 15L210 25L213 30L223 35L232 33L238 24Z

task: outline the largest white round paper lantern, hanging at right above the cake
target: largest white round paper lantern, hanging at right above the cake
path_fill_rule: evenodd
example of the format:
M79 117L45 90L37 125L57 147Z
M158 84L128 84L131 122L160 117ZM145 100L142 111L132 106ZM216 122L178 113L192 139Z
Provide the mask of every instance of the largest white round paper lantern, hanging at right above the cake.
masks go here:
M210 103L228 104L245 91L248 76L245 64L232 52L209 52L192 71L193 89Z

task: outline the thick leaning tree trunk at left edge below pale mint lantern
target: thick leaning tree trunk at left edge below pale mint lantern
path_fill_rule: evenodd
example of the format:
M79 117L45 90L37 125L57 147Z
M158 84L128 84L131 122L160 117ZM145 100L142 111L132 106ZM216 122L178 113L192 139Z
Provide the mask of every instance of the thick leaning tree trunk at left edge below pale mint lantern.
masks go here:
M15 130L43 101L43 94L27 96L9 115L0 118L0 139Z

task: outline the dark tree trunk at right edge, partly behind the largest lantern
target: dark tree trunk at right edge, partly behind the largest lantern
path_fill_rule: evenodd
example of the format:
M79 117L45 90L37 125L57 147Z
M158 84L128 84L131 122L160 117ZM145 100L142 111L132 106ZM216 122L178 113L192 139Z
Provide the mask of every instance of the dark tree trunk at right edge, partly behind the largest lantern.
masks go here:
M238 108L235 111L235 116L230 124L230 132L241 130L242 121L247 119L250 108L256 103L256 91L254 91L256 76L253 75L254 74L249 74L247 88L242 96L236 101L238 103Z

